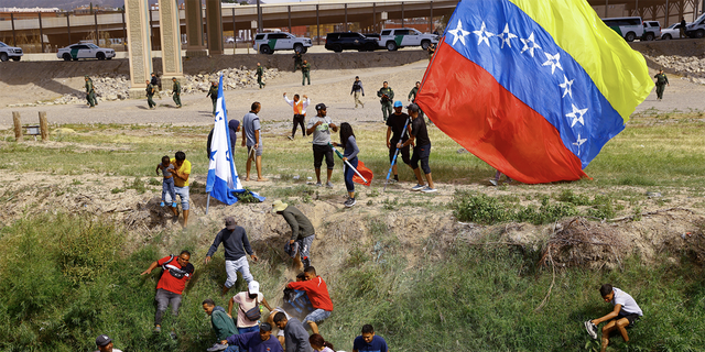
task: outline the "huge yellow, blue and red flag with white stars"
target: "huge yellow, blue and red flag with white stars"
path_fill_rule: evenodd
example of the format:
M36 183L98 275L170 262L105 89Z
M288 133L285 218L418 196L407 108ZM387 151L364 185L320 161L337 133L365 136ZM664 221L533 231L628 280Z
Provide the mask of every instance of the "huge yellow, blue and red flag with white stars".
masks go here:
M462 0L416 102L467 151L539 184L586 177L652 87L585 0Z

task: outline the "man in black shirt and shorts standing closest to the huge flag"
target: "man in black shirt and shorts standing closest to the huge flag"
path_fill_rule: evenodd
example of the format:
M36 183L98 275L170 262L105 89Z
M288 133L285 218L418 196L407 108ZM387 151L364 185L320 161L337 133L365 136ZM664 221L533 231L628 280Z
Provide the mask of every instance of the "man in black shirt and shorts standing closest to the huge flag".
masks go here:
M397 147L404 147L415 142L414 154L411 157L411 168L414 169L416 186L412 187L412 190L421 190L423 193L434 193L437 189L433 188L433 179L431 178L431 167L429 167L429 156L431 155L431 140L429 139L429 131L426 131L426 123L419 114L419 106L412 103L406 107L409 116L413 119L411 122L411 136L404 143L398 143ZM419 169L419 162L421 162L421 168L426 175L429 186L425 186L423 178L421 177L421 169Z

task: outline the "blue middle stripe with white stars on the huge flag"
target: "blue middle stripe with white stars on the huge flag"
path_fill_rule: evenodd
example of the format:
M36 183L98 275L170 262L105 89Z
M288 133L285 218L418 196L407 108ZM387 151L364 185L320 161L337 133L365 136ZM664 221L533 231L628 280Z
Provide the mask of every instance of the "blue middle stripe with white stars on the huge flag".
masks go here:
M585 69L513 3L463 0L447 28L446 44L543 116L583 168L625 129Z

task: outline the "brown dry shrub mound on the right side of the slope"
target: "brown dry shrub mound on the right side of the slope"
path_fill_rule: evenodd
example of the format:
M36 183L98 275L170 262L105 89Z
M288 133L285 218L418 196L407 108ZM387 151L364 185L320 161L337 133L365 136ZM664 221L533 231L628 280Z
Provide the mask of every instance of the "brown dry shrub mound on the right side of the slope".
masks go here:
M621 260L627 254L623 239L612 227L577 217L556 222L540 263L561 267L621 266Z

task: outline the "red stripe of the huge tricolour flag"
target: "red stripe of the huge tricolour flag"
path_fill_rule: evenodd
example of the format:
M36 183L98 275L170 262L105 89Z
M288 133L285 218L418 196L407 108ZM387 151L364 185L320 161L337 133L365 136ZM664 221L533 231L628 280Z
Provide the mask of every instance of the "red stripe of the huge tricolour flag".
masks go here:
M445 134L513 179L542 184L587 177L551 123L445 42L416 103Z

